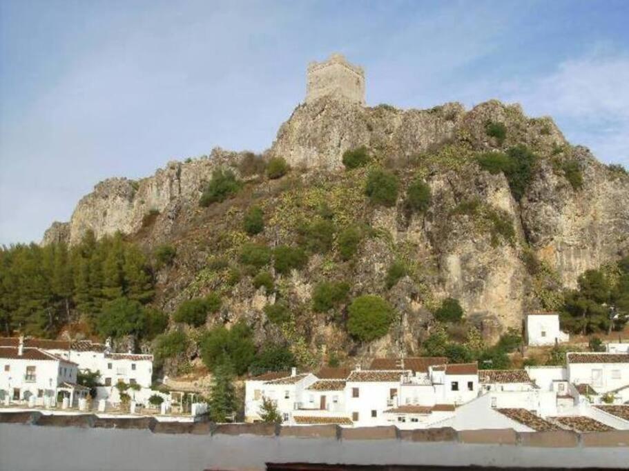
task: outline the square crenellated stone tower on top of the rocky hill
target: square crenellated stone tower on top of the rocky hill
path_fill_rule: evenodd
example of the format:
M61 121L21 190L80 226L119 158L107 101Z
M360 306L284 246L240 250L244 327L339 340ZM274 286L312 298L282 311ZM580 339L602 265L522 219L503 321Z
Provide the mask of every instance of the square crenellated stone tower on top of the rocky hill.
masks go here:
M306 103L327 95L365 106L365 71L347 62L342 54L309 63Z

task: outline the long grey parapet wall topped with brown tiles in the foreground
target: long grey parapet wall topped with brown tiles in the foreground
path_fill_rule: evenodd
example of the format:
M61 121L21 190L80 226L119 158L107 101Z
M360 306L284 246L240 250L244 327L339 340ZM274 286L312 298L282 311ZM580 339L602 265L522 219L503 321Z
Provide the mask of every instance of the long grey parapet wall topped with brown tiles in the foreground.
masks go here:
M4 412L0 437L0 469L10 470L264 470L266 463L623 468L629 463L629 430L281 427Z

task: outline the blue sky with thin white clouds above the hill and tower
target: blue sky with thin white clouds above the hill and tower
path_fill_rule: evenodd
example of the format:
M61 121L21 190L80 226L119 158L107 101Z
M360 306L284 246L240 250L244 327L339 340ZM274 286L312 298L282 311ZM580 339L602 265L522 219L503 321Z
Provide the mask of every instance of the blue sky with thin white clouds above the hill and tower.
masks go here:
M0 243L39 241L107 177L268 148L311 60L367 103L550 114L629 167L629 1L0 0Z

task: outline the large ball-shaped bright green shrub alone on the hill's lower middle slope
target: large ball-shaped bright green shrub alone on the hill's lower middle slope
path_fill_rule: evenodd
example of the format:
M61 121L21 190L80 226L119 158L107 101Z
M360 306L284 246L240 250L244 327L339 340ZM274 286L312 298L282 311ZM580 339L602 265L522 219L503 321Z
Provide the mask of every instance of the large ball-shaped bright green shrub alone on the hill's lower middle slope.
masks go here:
M348 311L347 331L367 342L383 337L394 318L393 307L385 299L371 294L354 299Z

